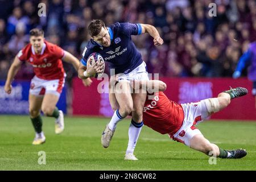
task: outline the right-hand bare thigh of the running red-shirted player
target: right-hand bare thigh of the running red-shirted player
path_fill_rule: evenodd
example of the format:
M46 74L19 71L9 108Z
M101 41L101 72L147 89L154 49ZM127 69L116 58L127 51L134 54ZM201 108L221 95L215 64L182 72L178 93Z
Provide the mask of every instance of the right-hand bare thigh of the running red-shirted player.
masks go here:
M59 101L59 97L56 94L47 93L44 95L43 103L42 103L42 111L47 114L51 114L55 109L57 102Z

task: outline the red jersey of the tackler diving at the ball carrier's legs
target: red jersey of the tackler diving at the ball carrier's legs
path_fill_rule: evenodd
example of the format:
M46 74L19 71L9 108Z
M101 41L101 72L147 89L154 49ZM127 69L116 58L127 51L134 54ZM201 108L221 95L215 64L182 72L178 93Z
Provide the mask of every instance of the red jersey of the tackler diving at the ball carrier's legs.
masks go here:
M161 134L175 134L183 124L184 111L181 105L168 100L163 92L155 93L153 99L146 99L143 107L144 125Z

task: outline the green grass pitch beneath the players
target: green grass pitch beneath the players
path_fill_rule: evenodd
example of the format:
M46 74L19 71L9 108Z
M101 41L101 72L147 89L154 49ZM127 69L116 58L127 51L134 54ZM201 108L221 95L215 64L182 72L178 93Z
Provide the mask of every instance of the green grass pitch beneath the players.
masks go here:
M217 159L174 142L143 126L134 154L125 161L128 119L119 122L109 148L101 133L109 119L65 117L65 130L54 133L54 119L43 117L46 143L32 146L34 130L28 116L0 116L0 170L256 170L256 122L205 121L198 128L210 142L225 149L245 148L242 159ZM46 152L46 165L38 152Z

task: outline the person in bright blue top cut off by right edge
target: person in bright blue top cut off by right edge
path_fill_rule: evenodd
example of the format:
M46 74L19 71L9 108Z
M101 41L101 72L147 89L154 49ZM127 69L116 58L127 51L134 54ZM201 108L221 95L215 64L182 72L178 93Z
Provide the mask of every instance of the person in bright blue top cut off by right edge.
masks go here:
M256 108L256 42L249 44L249 48L238 61L236 71L233 73L233 78L241 76L242 70L249 64L248 67L248 78L253 82L253 90L251 93L255 97L255 108Z

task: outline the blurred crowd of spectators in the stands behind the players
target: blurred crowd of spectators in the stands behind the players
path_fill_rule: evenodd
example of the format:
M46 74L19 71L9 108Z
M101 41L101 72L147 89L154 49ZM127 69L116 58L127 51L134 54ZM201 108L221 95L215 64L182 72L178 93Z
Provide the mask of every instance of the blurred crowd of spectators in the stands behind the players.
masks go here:
M217 16L209 16L212 2ZM38 15L39 3L45 3L47 16ZM0 79L6 78L14 56L28 43L31 28L43 28L49 42L80 59L92 19L107 25L157 27L163 46L155 47L147 34L134 42L148 72L167 77L231 77L239 57L256 38L255 0L0 0ZM64 67L71 84L77 73L71 65ZM16 78L32 76L32 67L24 63Z

